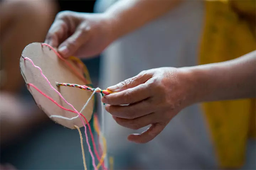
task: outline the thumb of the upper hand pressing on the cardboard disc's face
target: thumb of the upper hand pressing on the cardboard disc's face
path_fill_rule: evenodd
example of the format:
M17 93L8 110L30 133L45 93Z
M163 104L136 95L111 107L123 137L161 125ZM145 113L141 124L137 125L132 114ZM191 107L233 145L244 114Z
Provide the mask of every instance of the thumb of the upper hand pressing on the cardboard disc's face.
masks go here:
M66 39L58 48L58 52L64 58L68 58L75 54L79 47L89 38L89 29L79 28L76 32Z

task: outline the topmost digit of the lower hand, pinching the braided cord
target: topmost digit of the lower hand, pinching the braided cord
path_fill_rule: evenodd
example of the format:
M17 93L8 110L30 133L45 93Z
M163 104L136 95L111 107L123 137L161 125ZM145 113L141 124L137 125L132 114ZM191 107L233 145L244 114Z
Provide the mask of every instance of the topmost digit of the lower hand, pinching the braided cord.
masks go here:
M142 72L142 73L136 75L135 77L126 79L114 86L108 87L107 90L112 91L112 92L120 92L120 91L123 91L126 89L136 87L140 84L143 84L146 81L148 81L148 79L150 79L151 77L152 77L151 74Z

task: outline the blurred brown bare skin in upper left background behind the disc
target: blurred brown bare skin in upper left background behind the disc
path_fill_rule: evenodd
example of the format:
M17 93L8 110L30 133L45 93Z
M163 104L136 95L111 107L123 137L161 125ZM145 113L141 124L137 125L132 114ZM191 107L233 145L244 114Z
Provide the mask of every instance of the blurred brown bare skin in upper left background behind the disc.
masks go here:
M44 41L54 15L55 4L50 1L1 2L1 91L20 91L24 84L19 66L21 53L26 45Z

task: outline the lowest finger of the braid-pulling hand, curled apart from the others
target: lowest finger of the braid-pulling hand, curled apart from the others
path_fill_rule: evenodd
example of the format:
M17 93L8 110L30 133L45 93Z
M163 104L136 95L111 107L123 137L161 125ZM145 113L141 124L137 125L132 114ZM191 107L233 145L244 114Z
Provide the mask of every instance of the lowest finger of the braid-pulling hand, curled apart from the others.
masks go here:
M141 134L131 134L128 140L135 143L147 143L153 140L165 128L165 123L152 124L150 128Z

